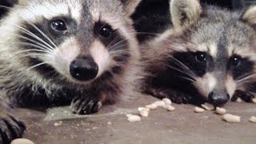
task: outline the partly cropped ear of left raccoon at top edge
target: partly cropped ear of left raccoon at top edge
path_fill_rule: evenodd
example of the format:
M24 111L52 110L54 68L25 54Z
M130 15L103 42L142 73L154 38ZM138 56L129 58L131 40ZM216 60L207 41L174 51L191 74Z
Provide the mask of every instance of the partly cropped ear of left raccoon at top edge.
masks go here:
M122 5L126 10L126 14L129 16L134 14L136 8L142 0L121 0Z

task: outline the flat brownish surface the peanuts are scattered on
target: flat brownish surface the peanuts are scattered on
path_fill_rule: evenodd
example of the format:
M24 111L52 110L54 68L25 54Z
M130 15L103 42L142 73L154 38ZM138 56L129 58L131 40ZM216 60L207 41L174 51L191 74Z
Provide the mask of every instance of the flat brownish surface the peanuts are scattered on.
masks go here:
M256 143L256 123L248 122L250 116L256 116L255 104L230 102L225 106L229 113L242 116L241 123L223 122L213 111L195 114L194 106L175 104L173 112L158 108L150 111L149 118L142 118L142 122L127 121L126 114L138 114L138 106L156 100L138 98L122 106L105 106L98 114L82 117L71 114L68 106L47 113L25 109L15 113L26 122L24 137L40 144Z

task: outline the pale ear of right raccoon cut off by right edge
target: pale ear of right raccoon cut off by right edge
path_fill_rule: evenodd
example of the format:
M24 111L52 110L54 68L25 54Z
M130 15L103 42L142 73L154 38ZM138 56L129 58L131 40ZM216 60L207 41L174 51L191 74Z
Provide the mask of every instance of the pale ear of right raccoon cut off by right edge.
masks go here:
M253 26L256 29L256 6L251 6L246 10L242 15L242 21L248 22L250 26Z

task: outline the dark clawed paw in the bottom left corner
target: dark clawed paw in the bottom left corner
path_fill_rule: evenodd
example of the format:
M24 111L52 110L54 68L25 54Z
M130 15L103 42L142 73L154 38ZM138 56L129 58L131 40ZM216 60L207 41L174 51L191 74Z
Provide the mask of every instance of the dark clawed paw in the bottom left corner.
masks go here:
M0 143L10 143L16 138L22 138L26 126L10 115L0 117Z

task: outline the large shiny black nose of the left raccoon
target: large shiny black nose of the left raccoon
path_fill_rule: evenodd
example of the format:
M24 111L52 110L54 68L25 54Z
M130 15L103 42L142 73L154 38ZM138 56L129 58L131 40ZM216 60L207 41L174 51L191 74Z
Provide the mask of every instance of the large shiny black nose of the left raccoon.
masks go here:
M78 81L89 81L98 74L98 65L93 58L77 58L70 64L70 74Z

